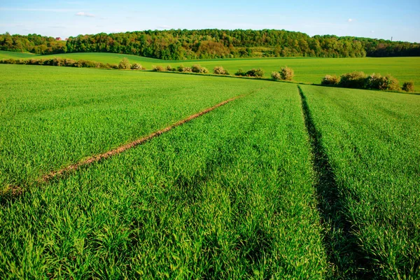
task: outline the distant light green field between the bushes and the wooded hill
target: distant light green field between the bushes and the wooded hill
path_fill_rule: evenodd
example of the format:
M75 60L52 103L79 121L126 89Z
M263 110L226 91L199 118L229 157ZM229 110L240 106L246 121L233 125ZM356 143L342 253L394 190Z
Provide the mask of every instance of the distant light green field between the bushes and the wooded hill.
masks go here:
M10 58L15 53L0 52L1 58ZM201 64L210 71L214 66L224 66L235 73L239 68L248 70L251 68L262 68L265 70L265 76L268 78L272 71L279 71L281 66L289 66L295 70L295 80L304 83L321 83L321 78L326 74L340 75L351 71L365 71L365 73L381 73L398 78L401 85L405 81L413 80L416 88L420 87L420 57L364 57L364 58L267 58L267 59L212 59L212 60L185 60L185 61L167 61L161 59L152 59L147 57L138 57L135 55L119 55L114 53L69 53L62 55L43 55L41 57L67 57L71 59L87 59L96 62L118 64L123 57L130 59L130 62L138 62L147 69L153 65L192 66ZM18 57L21 58L21 57Z

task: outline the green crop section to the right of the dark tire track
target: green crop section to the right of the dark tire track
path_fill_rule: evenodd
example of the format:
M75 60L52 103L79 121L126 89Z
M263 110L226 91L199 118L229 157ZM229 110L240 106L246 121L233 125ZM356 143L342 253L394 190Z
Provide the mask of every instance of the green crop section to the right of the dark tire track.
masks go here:
M418 279L420 97L302 90L363 257L380 279Z

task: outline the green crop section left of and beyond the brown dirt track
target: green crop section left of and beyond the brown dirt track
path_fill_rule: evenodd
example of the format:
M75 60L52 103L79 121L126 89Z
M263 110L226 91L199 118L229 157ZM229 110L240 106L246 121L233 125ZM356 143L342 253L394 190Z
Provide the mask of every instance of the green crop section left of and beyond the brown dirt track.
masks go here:
M1 64L0 71L1 187L30 183L266 85L50 66Z

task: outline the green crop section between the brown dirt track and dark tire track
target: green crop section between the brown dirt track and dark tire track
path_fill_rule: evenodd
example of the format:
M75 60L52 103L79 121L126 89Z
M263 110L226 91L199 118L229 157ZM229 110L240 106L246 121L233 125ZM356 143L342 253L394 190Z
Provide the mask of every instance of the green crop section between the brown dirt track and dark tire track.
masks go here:
M264 87L1 207L0 274L322 279L300 98Z

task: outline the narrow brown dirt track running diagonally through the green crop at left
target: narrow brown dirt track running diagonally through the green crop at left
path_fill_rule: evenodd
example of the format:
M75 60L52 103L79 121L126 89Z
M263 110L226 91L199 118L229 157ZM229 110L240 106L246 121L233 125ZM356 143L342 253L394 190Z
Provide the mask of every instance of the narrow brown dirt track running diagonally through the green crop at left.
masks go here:
M210 111L213 111L214 109L217 109L220 106L223 106L225 104L228 104L229 102L234 101L235 99L238 99L240 97L243 97L244 95L238 95L237 97L232 97L231 99L225 100L219 104L216 104L212 106L211 108L205 109L199 113L195 113L194 115L189 116L188 118L184 118L183 120L179 120L179 122L174 123L173 125L169 125L168 127L165 127L162 130L158 130L157 132L153 132L152 134L148 134L148 136L137 139L135 141L130 142L129 144L125 144L123 146L120 146L118 148L115 148L111 151L108 151L106 153L102 153L99 155L94 155L90 158L87 158L85 160L81 160L80 162L77 162L74 165L69 165L68 167L64 167L63 169L59 169L55 172L50 172L49 174L45 174L41 177L41 179L38 179L38 183L45 183L50 181L51 179L54 179L57 176L60 176L62 174L65 174L67 172L71 172L73 170L76 170L84 165L90 165L93 162L98 162L99 160L104 160L106 158L111 158L113 155L118 155L119 153L123 153L124 151L127 151L130 148L134 148L135 146L144 144L146 141L149 141L155 137L160 136L160 134L164 134L165 132L169 132L169 130L174 129L175 127L178 127L180 125L183 125L184 123L188 123L190 120L194 120L195 118L198 118L200 116L203 116L204 114L209 113Z

